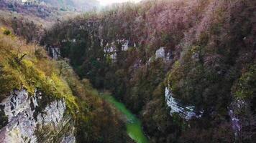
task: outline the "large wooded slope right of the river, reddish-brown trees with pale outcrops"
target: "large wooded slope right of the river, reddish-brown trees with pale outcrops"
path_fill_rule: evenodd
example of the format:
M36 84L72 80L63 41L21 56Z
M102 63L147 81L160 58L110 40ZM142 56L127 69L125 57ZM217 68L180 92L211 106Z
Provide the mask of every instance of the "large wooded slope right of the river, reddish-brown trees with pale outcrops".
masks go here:
M55 24L42 43L140 115L151 142L253 142L255 6L119 5Z

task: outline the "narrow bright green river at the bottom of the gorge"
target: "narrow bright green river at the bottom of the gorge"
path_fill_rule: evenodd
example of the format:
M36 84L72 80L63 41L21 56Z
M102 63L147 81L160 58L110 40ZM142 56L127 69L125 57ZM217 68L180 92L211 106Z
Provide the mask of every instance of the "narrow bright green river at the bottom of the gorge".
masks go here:
M132 114L132 112L127 109L122 102L118 102L114 97L108 94L103 94L103 98L111 103L116 109L118 109L122 114L127 117L126 127L127 127L127 134L129 137L134 139L137 143L147 143L147 137L143 133L142 124L137 117Z

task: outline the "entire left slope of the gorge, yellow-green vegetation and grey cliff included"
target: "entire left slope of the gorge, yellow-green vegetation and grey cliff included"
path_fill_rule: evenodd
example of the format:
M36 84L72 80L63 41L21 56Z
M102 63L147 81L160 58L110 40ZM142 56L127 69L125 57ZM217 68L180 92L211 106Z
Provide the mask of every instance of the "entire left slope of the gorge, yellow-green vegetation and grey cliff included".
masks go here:
M126 142L119 113L66 61L1 27L0 142Z

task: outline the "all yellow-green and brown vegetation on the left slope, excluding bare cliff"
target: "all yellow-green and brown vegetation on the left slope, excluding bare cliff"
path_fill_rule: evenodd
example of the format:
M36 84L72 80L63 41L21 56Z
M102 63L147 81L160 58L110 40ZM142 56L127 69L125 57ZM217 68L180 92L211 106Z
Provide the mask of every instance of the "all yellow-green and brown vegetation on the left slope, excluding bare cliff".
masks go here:
M99 98L87 79L82 81L65 61L58 63L37 45L24 44L17 36L0 33L0 99L13 89L27 89L32 96L35 89L44 98L65 99L68 114L76 123L77 142L125 142L127 139L119 114ZM61 74L60 74L61 70ZM45 104L40 105L42 108ZM6 117L1 116L1 123Z

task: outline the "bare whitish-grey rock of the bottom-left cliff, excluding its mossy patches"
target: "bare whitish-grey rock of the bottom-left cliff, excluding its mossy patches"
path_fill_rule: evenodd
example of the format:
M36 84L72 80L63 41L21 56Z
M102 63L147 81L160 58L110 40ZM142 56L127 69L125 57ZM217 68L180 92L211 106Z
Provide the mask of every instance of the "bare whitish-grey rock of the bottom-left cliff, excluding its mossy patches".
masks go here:
M70 117L64 117L65 102L64 100L54 100L47 104L45 109L39 111L35 118L35 109L39 106L42 100L41 93L36 92L32 97L29 97L26 90L12 92L11 96L1 102L4 107L4 113L8 117L8 124L0 130L0 142L37 142L35 132L38 127L50 126L61 132L63 124L68 124ZM41 107L40 107L41 108ZM54 130L55 131L55 130ZM50 134L50 130L45 134ZM70 132L63 142L76 142L74 132Z

